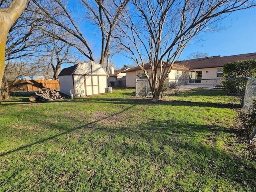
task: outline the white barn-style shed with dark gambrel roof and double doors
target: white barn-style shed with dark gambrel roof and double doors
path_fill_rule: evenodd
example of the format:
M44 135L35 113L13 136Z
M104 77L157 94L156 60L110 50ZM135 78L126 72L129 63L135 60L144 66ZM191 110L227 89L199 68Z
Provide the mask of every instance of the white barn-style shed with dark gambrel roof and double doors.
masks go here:
M84 90L82 95L97 95L107 90L108 74L93 61L83 62L62 69L59 74L60 92L70 95L71 89Z

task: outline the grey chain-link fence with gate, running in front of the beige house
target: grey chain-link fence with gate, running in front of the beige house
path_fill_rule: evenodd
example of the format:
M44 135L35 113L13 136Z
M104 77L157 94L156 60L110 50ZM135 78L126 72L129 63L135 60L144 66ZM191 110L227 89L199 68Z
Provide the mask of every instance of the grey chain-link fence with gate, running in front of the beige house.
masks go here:
M222 88L228 95L240 96L241 107L246 113L250 113L256 98L256 80L251 78L216 78L216 79L167 79L168 91L187 92L191 89ZM152 97L148 80L136 80L136 96ZM256 136L256 127L250 135L251 143Z

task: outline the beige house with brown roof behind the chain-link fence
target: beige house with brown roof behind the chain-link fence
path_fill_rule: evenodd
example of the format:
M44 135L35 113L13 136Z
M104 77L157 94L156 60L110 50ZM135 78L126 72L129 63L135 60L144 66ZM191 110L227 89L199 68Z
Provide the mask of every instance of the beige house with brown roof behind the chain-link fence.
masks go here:
M240 54L233 56L212 56L206 58L198 58L192 60L178 61L174 64L169 76L168 81L173 82L180 78L182 73L186 72L186 75L182 78L186 78L187 84L191 85L208 85L212 84L213 81L215 85L221 85L223 66L228 62L235 62L239 60L249 60L256 59L256 53ZM145 64L147 71L150 71L150 65ZM187 71L188 70L188 71ZM139 67L131 68L126 71L126 86L135 87L136 78L138 74L142 73ZM144 77L139 77L144 78ZM220 80L218 80L220 79Z

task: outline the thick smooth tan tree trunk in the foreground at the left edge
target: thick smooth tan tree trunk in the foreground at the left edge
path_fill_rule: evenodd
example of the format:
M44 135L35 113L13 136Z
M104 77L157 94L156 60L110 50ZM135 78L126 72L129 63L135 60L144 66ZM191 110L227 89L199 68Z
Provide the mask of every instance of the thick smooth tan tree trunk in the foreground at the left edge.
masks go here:
M20 17L25 6L26 0L13 0L8 8L0 9L0 82L4 75L6 38L12 24Z

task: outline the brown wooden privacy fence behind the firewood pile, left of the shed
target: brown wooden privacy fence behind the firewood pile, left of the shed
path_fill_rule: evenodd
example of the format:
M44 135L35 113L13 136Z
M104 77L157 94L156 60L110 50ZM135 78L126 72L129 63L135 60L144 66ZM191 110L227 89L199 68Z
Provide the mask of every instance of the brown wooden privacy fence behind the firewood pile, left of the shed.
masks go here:
M8 81L9 91L32 92L40 91L42 88L60 89L59 80L18 80Z

